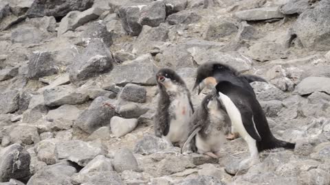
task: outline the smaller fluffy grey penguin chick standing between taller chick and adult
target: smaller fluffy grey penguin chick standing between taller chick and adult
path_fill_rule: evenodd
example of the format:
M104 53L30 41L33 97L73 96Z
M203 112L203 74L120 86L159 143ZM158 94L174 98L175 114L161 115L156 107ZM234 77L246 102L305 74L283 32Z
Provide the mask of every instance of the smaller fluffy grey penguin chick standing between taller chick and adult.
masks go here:
M220 149L225 142L225 133L229 132L230 118L217 96L206 95L201 106L190 119L190 132L181 153L189 145L190 150L205 154L211 158L220 157Z

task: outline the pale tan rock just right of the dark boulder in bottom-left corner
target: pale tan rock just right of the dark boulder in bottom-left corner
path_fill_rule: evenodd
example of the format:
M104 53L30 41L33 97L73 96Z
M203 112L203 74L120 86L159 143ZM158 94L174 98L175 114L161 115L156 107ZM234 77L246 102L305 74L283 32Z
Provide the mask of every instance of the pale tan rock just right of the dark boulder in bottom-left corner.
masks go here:
M45 162L47 165L55 164L58 161L56 142L58 141L54 139L41 140L34 149L37 153L38 160Z

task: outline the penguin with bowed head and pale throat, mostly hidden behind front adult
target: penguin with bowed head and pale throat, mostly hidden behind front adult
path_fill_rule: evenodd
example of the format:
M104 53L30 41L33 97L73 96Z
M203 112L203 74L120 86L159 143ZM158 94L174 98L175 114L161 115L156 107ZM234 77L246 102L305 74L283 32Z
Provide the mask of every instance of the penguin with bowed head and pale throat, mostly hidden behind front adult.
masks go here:
M198 87L199 94L206 86L212 88L222 80L229 81L236 86L240 86L248 90L254 96L254 90L252 86L250 86L250 83L255 81L266 82L265 79L256 75L243 75L232 66L221 64L219 62L206 62L198 67L195 85L192 90ZM235 129L235 127L232 127L231 134L227 136L228 139L231 140L238 137Z

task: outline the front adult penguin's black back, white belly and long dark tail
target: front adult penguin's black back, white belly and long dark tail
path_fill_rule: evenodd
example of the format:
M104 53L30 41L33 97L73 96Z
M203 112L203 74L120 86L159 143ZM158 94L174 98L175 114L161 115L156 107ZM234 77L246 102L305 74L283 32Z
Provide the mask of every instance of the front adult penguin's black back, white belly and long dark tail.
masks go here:
M278 140L273 136L265 113L250 90L228 81L219 82L215 88L232 125L248 143L252 158L258 158L258 153L266 149L294 149L294 143Z

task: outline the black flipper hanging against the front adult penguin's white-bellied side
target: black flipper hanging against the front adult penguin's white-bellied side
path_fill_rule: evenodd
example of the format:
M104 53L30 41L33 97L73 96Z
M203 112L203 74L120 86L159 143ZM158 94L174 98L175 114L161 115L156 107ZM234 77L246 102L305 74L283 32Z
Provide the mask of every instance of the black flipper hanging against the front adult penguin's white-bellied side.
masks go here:
M261 136L259 135L258 130L256 130L256 124L254 123L254 116L252 110L250 110L250 108L244 106L243 104L239 105L239 110L239 112L241 112L241 118L245 130L256 141L261 141Z

